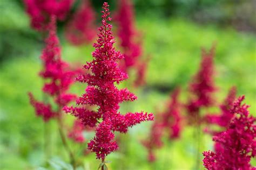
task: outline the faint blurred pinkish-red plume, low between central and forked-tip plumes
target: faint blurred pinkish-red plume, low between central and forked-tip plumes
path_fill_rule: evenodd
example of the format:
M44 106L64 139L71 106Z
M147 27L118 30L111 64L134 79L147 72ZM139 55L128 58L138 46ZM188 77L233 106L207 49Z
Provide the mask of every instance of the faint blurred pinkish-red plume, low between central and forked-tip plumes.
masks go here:
M171 101L168 110L157 117L151 127L149 140L143 141L144 146L148 150L148 160L150 162L156 160L153 150L163 146L163 141L161 139L163 138L165 130L167 133L169 133L169 139L176 139L180 136L181 104L178 101L179 94L180 88L176 88L171 95Z

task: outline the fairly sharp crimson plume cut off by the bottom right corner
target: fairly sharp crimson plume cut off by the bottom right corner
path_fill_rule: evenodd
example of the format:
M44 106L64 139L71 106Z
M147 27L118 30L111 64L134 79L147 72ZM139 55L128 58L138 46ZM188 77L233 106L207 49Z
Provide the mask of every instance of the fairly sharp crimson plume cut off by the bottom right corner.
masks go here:
M213 137L218 147L215 152L204 152L204 166L207 169L255 169L250 164L256 154L256 118L250 116L244 96L233 103L234 114L228 129Z

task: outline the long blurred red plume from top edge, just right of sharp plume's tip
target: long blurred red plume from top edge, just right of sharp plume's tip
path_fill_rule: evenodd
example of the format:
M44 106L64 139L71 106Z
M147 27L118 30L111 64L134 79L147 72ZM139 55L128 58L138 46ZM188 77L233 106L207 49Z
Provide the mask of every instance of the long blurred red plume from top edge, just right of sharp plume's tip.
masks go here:
M119 0L119 9L115 20L118 24L118 37L120 46L123 48L124 60L120 62L120 67L127 73L129 68L137 69L137 80L135 86L145 83L145 72L148 59L139 61L142 56L142 41L139 41L139 33L134 26L133 4L130 0Z

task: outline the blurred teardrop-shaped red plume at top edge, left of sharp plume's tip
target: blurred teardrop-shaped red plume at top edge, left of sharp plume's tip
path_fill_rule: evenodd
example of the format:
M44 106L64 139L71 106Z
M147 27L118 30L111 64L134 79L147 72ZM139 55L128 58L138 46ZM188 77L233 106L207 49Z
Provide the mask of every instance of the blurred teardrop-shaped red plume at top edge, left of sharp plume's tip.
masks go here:
M84 0L66 25L65 35L72 44L80 45L96 37L95 27L95 12L90 1Z

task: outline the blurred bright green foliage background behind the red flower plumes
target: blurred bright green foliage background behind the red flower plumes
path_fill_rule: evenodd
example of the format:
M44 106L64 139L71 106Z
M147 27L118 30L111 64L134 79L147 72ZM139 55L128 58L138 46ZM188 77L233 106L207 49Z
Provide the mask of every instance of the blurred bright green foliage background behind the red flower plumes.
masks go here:
M91 1L100 24L100 10L104 1ZM116 1L108 1L111 12ZM138 100L121 105L120 111L153 112L165 108L174 87L182 89L181 101L186 102L188 82L197 73L200 48L210 49L217 42L215 82L218 102L224 100L228 89L236 86L238 95L246 95L251 114L256 114L256 1L229 0L134 0L136 26L142 32L144 55L150 55L146 84L128 87ZM72 6L73 13L79 1ZM65 61L83 65L91 60L92 42L73 46L64 36L64 25L58 22L58 36ZM113 29L115 30L115 23ZM117 39L118 41L118 39ZM63 151L56 123L45 125L35 116L29 104L28 91L42 97L43 80L39 56L44 47L42 34L31 29L30 18L23 1L0 1L0 169L67 169L68 154ZM117 47L118 49L118 47ZM132 74L131 74L132 75ZM132 79L132 77L131 77ZM85 86L74 84L72 91L82 94ZM72 120L73 117L69 116ZM67 122L67 124L69 121ZM111 153L107 160L109 169L193 169L195 148L193 129L184 128L180 139L165 141L156 151L157 160L147 161L146 139L152 122L134 126L127 134L117 134L120 150ZM45 133L49 133L45 139ZM93 133L85 132L86 141ZM48 146L45 146L48 140ZM211 136L205 134L202 151L212 149ZM72 141L69 141L72 145ZM45 153L45 147L48 152ZM72 145L81 152L86 143ZM45 160L47 157L47 160ZM202 157L203 159L203 157ZM45 161L48 162L45 164ZM100 164L95 154L83 159L85 169L97 169ZM255 166L255 162L252 162ZM203 166L202 166L203 167ZM201 168L202 168L201 167Z

